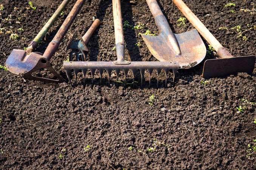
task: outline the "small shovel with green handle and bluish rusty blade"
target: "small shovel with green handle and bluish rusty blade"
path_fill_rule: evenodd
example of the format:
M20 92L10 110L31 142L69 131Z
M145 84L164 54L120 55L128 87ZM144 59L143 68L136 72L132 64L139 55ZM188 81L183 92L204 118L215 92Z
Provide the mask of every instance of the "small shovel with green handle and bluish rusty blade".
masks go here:
M20 74L27 73L29 70L35 67L37 61L34 61L33 56L31 56L32 51L37 47L37 44L42 40L45 34L48 32L52 24L60 16L60 13L65 9L70 0L63 0L59 8L54 12L52 17L47 21L45 26L40 30L37 36L29 44L26 50L15 47L11 54L6 60L6 67L11 73Z

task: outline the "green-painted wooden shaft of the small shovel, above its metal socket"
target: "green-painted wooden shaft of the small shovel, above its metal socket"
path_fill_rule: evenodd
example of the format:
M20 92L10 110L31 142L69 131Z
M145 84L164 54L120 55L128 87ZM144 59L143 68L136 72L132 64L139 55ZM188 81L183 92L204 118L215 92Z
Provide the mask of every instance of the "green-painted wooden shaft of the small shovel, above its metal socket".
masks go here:
M37 34L37 36L34 38L34 42L39 43L42 39L43 36L48 32L52 24L56 21L56 19L60 16L60 13L63 11L63 9L66 8L70 0L63 0L63 2L60 4L58 9L54 12L52 17L47 21L45 26L40 30L40 32Z

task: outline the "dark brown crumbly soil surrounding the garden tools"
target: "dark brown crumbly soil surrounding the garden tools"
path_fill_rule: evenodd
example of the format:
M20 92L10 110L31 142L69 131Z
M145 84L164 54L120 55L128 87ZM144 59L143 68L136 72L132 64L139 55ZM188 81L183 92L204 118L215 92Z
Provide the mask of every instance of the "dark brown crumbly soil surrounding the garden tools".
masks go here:
M26 0L0 2L4 6L0 11L0 27L12 28L19 34L15 40L9 39L10 33L5 33L8 29L0 35L0 64L5 65L13 47L26 47L61 0L34 0L35 10L26 9L29 6ZM74 2L71 1L39 44L37 52L44 52ZM170 0L159 2L175 33L193 29L188 21L185 26L177 26L176 20L183 15ZM255 55L256 32L250 29L255 25L255 12L239 11L255 8L253 0L236 0L235 7L224 8L228 2L185 1L234 56ZM235 13L231 13L231 9ZM131 25L145 24L143 30L124 31L127 59L156 61L138 35L146 30L158 33L145 1L123 0L122 14L123 20ZM10 15L11 21L3 20ZM116 58L112 50L111 0L86 1L51 60L63 76L69 38L76 29L83 34L93 17L100 18L102 24L89 41L89 59L113 61ZM237 25L241 26L247 41L237 37L236 30L231 29ZM218 29L224 26L228 30ZM20 27L23 31L17 31ZM139 47L134 45L137 42L140 42ZM215 54L207 55L205 59L215 57ZM213 78L204 85L201 83L204 80L202 63L179 70L175 86L172 86L170 74L168 87L163 88L163 74L160 88L156 88L154 78L153 88L148 88L146 81L142 89L139 83L134 88L130 85L125 88L116 82L100 86L99 76L94 86L86 80L85 87L80 82L73 87L68 83L23 82L20 76L1 69L0 169L255 169L255 152L250 158L245 155L247 145L256 139L256 124L253 123L256 111L255 106L241 99L256 102L256 70L252 75L239 73ZM139 79L137 77L137 81ZM148 100L152 94L157 100L151 106ZM237 112L236 107L240 105L246 106L244 112ZM85 152L87 145L91 147ZM128 150L130 146L132 150ZM147 150L150 147L153 152ZM64 148L66 151L62 152Z

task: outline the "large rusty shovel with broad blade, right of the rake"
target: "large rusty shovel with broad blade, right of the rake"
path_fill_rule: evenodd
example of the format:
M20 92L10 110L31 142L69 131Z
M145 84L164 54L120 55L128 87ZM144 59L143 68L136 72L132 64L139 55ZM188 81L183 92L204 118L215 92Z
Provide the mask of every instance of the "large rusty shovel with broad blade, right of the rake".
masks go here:
M158 36L143 35L151 54L159 61L178 62L180 68L199 64L206 55L206 48L196 29L173 33L156 0L146 0L154 16Z

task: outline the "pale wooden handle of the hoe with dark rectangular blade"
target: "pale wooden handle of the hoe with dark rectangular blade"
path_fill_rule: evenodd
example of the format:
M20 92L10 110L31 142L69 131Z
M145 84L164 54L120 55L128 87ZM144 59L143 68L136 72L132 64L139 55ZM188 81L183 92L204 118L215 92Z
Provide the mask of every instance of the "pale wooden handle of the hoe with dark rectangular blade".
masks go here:
M233 56L225 49L221 43L211 34L205 25L196 17L196 15L188 8L182 0L173 0L179 10L185 15L190 23L197 29L197 31L211 44L221 58L232 58Z

